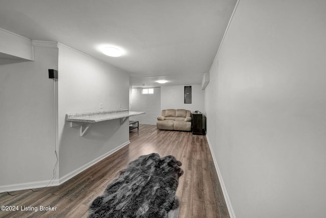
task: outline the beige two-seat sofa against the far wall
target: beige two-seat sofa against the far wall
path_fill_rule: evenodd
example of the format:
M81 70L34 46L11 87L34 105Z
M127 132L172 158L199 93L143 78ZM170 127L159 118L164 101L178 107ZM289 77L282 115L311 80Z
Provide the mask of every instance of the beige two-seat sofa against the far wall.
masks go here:
M161 115L157 117L156 127L160 130L191 131L191 112L184 109L162 110Z

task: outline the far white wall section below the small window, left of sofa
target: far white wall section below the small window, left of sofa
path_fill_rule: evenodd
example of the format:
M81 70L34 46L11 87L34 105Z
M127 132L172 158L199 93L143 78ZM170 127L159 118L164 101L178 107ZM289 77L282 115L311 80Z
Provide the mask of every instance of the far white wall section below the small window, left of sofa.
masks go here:
M161 114L160 87L154 87L153 94L142 94L142 88L132 88L130 111L145 111L145 114L132 116L130 120L138 120L139 124L156 125L157 117Z

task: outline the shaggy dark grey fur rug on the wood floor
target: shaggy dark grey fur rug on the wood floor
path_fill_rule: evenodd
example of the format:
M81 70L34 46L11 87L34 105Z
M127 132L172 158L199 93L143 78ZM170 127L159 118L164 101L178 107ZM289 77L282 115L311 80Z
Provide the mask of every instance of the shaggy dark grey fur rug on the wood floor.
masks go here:
M179 207L179 166L174 156L140 156L94 199L88 217L168 217L169 210Z

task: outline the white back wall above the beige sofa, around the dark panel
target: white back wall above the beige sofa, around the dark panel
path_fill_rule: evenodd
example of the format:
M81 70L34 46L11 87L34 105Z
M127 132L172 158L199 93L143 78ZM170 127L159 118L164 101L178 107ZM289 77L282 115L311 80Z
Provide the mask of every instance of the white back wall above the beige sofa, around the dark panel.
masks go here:
M161 110L186 109L204 111L204 90L200 84L192 86L192 104L184 104L184 85L161 87Z

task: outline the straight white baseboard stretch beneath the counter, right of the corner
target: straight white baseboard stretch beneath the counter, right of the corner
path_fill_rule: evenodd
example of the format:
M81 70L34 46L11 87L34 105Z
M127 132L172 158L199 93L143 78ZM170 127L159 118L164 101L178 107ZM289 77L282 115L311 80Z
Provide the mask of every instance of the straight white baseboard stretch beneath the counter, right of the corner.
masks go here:
M91 167L92 165L94 165L95 163L103 160L107 156L109 156L109 155L115 153L116 151L122 149L123 147L125 147L129 143L130 143L130 141L128 140L128 141L124 142L123 144L121 144L120 146L118 146L117 148L115 148L115 149L113 149L113 150L111 150L111 151L109 151L109 152L107 152L107 153L99 156L98 158L92 160L91 162L88 162L85 165L80 166L79 168L77 168L74 171L70 172L69 174L61 177L59 184L61 185L62 183L66 182L67 180L71 179L72 177L76 176L77 174L82 173L83 171L85 171L85 169Z

